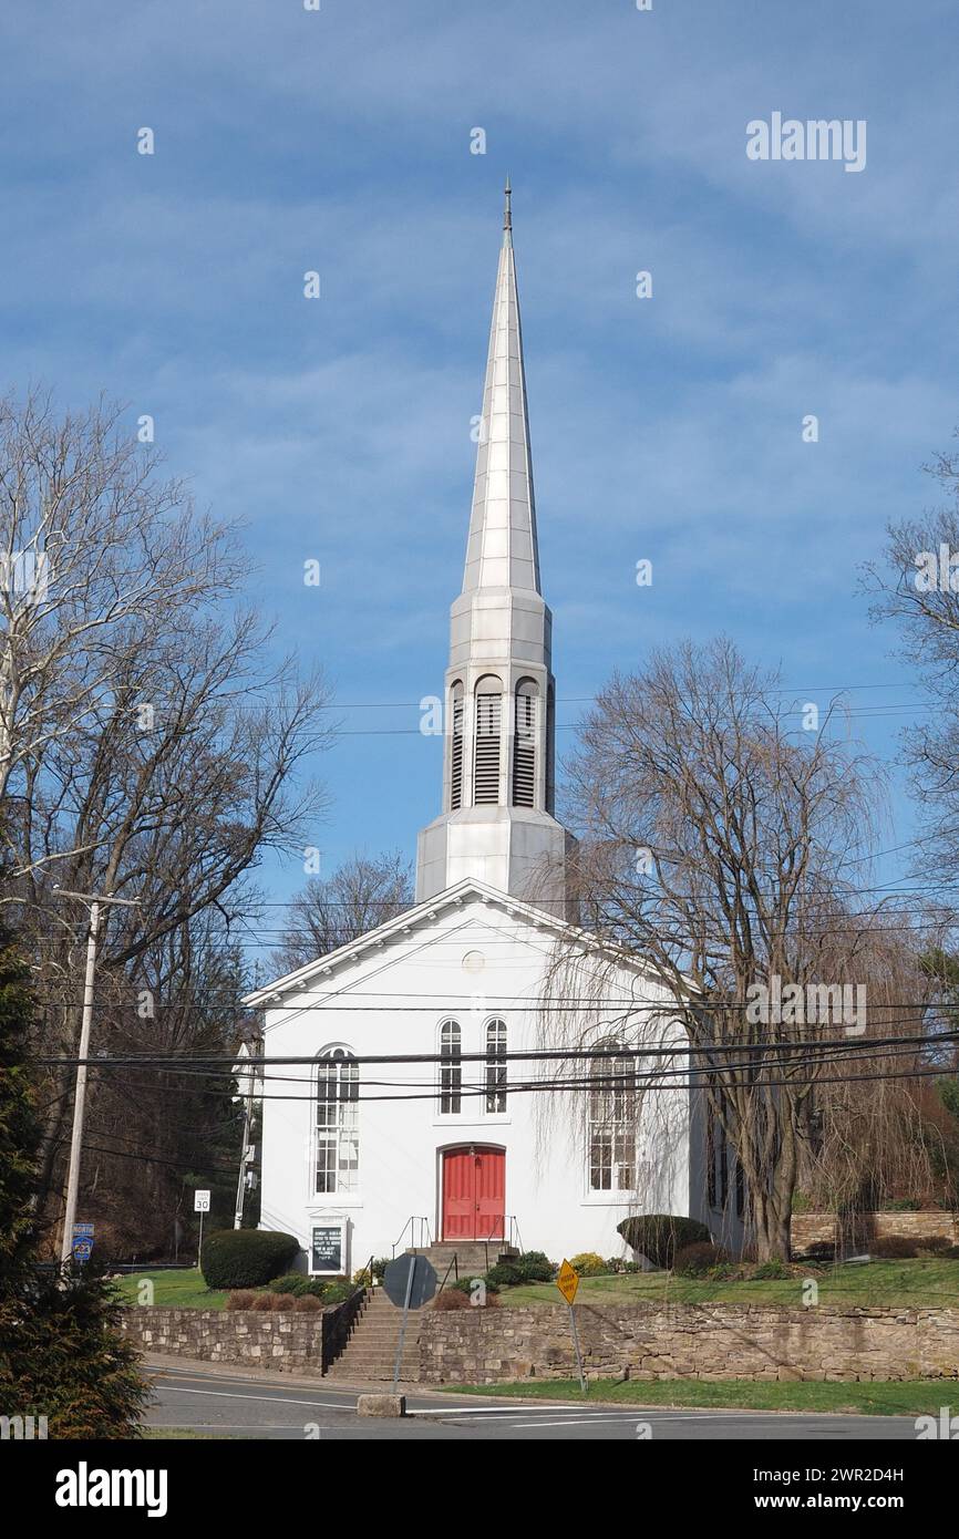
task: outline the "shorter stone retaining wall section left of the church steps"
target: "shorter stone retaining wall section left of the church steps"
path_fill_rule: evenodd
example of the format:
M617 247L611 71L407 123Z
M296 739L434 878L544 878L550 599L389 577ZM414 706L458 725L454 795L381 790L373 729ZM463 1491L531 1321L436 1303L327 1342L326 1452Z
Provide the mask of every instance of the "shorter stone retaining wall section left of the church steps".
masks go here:
M143 1305L123 1311L123 1330L145 1353L236 1362L280 1373L322 1373L326 1313L162 1310Z

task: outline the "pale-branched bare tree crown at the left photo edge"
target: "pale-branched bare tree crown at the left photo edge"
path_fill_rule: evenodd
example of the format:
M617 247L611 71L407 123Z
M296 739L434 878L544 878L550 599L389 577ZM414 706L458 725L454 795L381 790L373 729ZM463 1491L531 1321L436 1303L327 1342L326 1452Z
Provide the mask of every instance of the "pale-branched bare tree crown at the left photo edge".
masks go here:
M88 729L131 648L172 639L246 571L229 528L157 465L115 406L0 400L0 805Z

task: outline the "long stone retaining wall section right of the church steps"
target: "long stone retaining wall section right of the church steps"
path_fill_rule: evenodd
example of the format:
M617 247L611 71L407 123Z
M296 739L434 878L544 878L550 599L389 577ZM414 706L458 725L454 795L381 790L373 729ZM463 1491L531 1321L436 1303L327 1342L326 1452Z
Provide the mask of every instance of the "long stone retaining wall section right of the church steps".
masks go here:
M577 1305L590 1377L956 1379L959 1308ZM565 1305L428 1311L422 1384L576 1377Z

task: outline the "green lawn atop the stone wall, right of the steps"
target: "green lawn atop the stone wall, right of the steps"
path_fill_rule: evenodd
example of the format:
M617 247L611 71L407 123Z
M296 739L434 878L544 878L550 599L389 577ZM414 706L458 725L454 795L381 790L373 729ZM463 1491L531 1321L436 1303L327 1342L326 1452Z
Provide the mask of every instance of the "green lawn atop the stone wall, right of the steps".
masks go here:
M957 1260L871 1260L865 1265L810 1267L804 1277L819 1284L819 1304L911 1304L959 1308ZM804 1277L784 1282L711 1282L705 1277L673 1277L665 1271L616 1277L583 1277L579 1305L642 1304L802 1304ZM502 1305L562 1304L553 1282L503 1288Z

